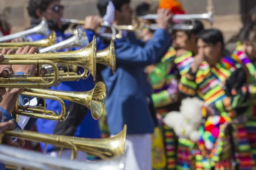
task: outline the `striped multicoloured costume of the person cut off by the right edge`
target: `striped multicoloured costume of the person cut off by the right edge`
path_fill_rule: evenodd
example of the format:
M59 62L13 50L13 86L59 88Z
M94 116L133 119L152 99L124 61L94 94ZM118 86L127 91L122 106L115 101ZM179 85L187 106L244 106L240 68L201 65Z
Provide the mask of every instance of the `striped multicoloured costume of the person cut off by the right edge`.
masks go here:
M247 111L248 121L246 123L246 130L253 153L254 167L256 168L256 59L251 61L242 51L235 51L232 57L236 59L236 61L243 63L251 76L249 85L251 106Z

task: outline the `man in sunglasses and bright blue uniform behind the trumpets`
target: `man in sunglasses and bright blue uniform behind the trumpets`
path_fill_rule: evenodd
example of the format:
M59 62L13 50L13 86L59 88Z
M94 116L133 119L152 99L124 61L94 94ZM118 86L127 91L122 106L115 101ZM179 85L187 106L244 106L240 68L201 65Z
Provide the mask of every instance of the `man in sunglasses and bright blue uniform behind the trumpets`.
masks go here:
M31 27L38 25L41 18L47 19L50 30L56 32L57 43L66 40L71 35L64 34L67 26L61 23L61 18L64 13L64 6L61 5L61 0L29 0L28 5L29 15L31 19ZM92 19L92 23L94 19ZM88 29L93 30L95 24L91 24ZM93 31L86 30L89 41L93 40ZM46 38L41 34L33 34L27 37L28 40L36 41ZM71 51L79 48L70 48ZM68 49L63 49L58 52L64 52ZM83 72L83 69L79 68ZM93 78L90 76L88 79L81 79L79 82L61 82L57 87L51 87L52 90L60 91L90 91L94 88ZM21 100L22 101L22 100ZM66 110L70 111L70 115L63 122L54 122L51 120L38 119L36 122L38 132L59 134L66 136L77 136L87 138L100 138L99 124L91 116L90 110L85 106L64 101ZM61 105L56 100L47 100L47 109L52 111L61 111ZM89 130L90 129L90 130ZM42 150L45 149L45 143L40 143ZM58 156L59 147L48 145L47 153L53 156ZM70 150L64 150L63 157L70 158ZM78 159L86 159L86 154L79 151Z

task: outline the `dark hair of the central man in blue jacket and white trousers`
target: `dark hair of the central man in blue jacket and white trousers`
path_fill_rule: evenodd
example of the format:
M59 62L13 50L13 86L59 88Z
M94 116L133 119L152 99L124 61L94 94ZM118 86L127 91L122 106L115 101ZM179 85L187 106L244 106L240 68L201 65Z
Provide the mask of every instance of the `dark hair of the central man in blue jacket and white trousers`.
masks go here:
M107 6L108 6L108 1L110 0L98 0L97 2L97 8L99 10L99 14L103 17L106 12L107 12ZM131 0L111 0L112 3L114 4L116 10L120 11L121 7L124 4L129 4Z

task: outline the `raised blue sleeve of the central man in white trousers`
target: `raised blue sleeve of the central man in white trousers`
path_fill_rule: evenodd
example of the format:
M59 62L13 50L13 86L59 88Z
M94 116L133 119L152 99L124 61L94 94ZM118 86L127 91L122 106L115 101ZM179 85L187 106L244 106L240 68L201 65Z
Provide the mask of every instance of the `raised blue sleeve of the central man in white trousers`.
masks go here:
M157 29L143 47L121 38L115 41L116 63L137 67L151 65L166 54L171 42L170 35L164 29Z

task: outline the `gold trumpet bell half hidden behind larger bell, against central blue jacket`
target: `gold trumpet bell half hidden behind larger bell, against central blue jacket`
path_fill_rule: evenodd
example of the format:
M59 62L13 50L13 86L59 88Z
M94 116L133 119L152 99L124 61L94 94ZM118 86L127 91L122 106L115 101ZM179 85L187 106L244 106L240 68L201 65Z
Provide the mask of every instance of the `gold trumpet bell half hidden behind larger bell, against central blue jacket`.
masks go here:
M108 48L97 52L97 63L110 67L113 74L116 71L116 51L114 41L111 40Z

